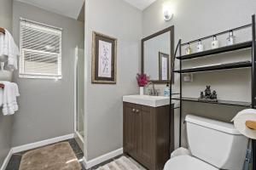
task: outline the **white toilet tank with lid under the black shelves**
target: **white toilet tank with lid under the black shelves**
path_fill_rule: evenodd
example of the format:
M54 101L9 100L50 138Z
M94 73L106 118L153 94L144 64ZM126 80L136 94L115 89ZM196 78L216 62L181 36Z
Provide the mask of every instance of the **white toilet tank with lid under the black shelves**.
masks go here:
M219 169L241 170L248 139L233 124L188 115L187 135L192 155Z

